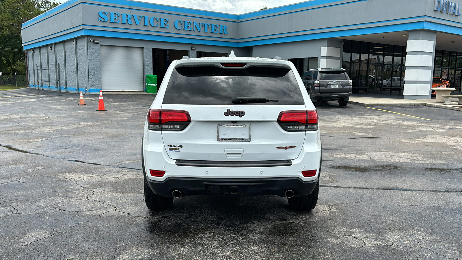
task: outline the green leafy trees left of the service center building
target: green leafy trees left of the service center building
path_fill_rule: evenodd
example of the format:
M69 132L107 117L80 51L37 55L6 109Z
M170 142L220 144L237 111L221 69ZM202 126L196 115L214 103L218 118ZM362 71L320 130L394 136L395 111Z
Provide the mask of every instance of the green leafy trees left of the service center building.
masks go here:
M0 71L26 73L21 41L24 22L58 6L50 0L0 0Z

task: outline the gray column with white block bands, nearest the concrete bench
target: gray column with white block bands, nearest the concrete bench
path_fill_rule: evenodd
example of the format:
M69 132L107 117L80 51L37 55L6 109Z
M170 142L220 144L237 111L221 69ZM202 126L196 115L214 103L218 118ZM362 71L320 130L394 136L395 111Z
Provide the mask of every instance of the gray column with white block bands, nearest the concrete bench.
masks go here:
M432 98L435 47L436 31L409 31L404 72L405 99Z

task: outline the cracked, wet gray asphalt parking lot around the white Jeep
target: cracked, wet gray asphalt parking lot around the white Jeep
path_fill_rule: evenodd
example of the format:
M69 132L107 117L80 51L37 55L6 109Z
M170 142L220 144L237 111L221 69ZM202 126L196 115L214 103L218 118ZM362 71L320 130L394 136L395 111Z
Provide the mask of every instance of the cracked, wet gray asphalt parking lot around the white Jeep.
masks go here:
M105 112L78 98L0 98L0 259L462 258L460 111L320 103L314 210L190 196L151 212L139 169L152 95L104 95Z

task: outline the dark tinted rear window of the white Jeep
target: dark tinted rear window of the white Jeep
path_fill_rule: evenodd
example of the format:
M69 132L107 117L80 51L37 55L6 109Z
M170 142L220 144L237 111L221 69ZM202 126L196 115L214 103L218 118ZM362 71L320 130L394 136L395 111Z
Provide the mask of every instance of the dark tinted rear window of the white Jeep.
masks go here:
M289 68L212 66L175 68L164 104L237 105L233 98L267 98L278 102L243 105L304 105L297 80Z

